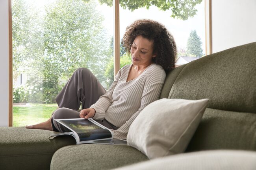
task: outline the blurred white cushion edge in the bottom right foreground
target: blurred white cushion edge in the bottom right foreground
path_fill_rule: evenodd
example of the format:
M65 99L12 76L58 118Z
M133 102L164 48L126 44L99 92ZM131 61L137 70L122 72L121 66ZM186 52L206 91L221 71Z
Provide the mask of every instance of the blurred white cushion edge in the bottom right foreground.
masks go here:
M210 150L171 155L115 170L256 170L256 152Z

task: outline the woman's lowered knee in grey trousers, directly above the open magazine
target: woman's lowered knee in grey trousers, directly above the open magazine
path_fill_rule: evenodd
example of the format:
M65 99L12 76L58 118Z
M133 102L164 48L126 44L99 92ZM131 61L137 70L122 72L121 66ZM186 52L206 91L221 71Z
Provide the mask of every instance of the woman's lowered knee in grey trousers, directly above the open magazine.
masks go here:
M76 110L72 110L69 108L59 108L57 109L53 115L52 119L72 119L79 118L79 112Z

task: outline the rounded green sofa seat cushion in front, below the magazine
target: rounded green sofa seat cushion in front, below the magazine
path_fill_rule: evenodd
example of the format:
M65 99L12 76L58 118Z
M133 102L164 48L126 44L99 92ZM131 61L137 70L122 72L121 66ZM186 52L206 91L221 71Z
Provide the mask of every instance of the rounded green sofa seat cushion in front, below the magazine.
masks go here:
M109 170L148 158L124 145L80 144L65 146L52 157L51 170Z

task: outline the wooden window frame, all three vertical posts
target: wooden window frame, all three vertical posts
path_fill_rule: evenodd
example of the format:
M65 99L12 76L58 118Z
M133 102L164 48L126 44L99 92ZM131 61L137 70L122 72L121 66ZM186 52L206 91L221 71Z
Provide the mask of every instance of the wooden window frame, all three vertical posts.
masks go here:
M206 55L211 51L211 0L205 3L205 32ZM119 27L119 0L113 0L114 14L114 76L120 69L120 27ZM12 52L12 15L11 0L9 0L9 126L13 126L13 52Z

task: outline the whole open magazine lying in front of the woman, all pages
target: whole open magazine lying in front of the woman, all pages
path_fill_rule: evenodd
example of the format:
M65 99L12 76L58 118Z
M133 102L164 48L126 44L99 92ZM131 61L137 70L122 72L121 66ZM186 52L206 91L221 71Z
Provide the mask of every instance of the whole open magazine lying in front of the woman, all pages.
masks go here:
M76 144L127 144L126 140L113 139L113 132L89 119L54 119L67 128L67 132L53 132L50 137L60 135L72 135L76 139Z

